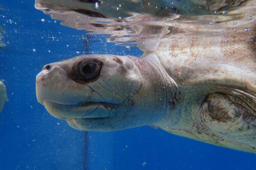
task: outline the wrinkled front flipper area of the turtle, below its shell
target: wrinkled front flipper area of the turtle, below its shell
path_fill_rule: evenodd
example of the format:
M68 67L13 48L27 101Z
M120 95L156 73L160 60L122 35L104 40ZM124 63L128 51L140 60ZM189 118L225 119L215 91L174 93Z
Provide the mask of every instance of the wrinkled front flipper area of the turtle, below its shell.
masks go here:
M256 153L256 97L242 90L209 93L192 121L162 128L205 143Z

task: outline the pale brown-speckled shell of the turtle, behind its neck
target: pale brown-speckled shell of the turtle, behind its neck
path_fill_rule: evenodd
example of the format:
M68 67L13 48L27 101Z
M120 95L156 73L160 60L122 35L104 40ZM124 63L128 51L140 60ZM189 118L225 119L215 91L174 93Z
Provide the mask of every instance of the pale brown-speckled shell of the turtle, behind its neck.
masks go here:
M218 83L256 92L253 32L238 33L215 37L178 34L160 40L155 53L177 83Z

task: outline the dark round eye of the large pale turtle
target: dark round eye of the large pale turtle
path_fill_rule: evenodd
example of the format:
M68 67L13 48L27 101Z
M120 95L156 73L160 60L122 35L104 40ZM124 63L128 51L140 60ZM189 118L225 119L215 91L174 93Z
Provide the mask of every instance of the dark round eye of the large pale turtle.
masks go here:
M87 59L75 64L72 78L75 81L95 81L101 73L102 63L95 59Z

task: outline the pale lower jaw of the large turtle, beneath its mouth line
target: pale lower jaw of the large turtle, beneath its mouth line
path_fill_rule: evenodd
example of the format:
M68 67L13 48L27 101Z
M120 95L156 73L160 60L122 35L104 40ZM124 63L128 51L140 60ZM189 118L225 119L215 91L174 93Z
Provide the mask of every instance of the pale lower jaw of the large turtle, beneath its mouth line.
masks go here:
M107 102L79 102L78 104L60 104L52 101L42 101L45 109L58 119L91 119L113 116L113 109L118 104Z

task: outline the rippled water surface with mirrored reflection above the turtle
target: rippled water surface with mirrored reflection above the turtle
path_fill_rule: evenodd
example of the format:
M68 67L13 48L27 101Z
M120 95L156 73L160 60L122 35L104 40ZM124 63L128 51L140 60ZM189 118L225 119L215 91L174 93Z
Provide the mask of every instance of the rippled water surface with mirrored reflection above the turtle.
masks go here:
M255 31L256 1L36 0L35 8L64 21L62 25L108 34L109 42L142 49L145 43L180 33L216 37L244 32L252 36Z

